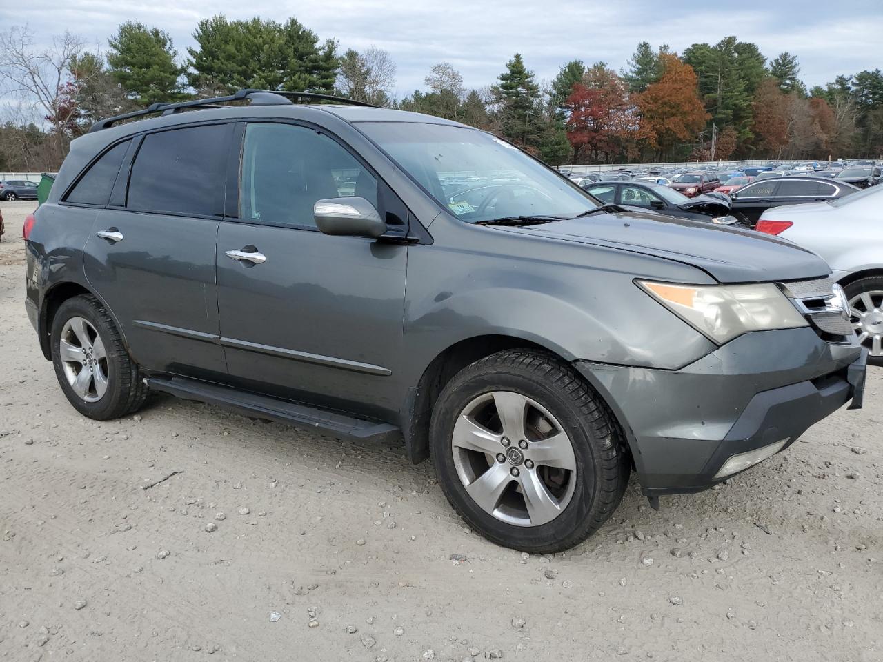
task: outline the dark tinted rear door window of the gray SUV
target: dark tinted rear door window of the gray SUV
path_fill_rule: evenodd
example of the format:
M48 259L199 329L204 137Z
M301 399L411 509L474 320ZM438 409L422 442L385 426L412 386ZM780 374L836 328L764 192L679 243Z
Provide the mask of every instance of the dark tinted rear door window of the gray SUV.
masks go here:
M150 133L135 156L126 207L172 214L223 214L226 124Z

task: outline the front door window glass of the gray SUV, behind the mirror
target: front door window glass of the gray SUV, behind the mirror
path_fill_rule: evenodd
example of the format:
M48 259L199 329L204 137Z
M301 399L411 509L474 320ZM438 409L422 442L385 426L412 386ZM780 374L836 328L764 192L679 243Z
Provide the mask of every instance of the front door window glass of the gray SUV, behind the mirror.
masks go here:
M239 216L314 228L317 200L356 196L374 207L377 179L336 140L305 126L249 124L245 128Z

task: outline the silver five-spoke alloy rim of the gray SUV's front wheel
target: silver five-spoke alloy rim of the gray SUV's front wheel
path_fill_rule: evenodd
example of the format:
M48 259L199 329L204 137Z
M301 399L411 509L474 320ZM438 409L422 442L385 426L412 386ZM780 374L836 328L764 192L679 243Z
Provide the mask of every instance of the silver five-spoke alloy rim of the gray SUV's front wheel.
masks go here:
M549 523L577 483L570 437L539 402L493 391L469 402L451 435L457 476L472 500L516 526Z

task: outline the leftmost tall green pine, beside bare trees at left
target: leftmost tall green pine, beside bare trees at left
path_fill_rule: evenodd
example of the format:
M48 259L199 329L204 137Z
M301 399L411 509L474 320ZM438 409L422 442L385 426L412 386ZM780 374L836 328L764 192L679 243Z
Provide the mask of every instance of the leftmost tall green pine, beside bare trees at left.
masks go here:
M182 98L182 67L176 63L177 51L171 37L156 27L128 21L108 40L110 75L126 95L147 106Z

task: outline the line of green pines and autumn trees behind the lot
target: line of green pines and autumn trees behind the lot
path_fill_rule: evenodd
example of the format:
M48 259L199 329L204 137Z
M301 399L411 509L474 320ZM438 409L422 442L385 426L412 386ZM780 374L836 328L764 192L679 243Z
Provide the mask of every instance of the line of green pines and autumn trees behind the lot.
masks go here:
M0 170L57 169L70 140L102 117L242 87L336 94L446 117L554 165L883 153L879 69L807 89L796 56L768 60L736 37L681 54L644 41L621 71L575 59L549 82L515 54L493 84L477 89L442 62L427 72L425 89L398 99L387 51L340 52L294 18L217 15L200 21L193 40L179 54L168 33L138 21L119 26L103 52L72 34L38 49L26 27L0 33L0 85L19 99L4 109Z

